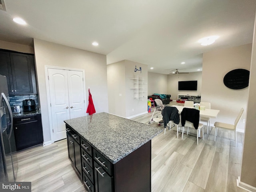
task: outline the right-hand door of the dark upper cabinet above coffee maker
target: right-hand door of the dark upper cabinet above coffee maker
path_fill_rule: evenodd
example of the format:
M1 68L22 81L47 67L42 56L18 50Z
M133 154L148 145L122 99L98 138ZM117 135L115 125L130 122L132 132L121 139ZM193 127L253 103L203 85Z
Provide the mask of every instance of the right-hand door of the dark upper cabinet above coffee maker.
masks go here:
M33 94L30 55L10 53L14 94Z

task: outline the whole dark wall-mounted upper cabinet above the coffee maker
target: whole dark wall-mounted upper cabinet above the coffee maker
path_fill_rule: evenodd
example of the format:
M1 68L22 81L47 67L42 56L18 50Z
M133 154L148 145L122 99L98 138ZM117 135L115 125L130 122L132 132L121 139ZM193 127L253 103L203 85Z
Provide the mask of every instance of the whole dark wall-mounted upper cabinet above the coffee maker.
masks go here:
M33 55L0 51L0 74L7 78L10 95L37 94Z

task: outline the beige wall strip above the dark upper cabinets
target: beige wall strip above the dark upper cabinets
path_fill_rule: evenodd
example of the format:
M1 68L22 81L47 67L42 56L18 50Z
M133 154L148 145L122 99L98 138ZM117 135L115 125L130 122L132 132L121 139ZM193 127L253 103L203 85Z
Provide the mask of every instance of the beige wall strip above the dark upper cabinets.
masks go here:
M0 49L34 54L34 48L32 46L6 42L6 41L2 41L2 40L0 40Z

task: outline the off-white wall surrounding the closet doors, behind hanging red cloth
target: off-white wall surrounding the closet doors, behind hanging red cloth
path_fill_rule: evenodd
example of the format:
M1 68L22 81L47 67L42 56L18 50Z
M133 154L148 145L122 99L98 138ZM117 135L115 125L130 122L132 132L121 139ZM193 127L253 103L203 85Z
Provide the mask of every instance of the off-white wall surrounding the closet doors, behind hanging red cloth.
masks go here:
M84 69L86 101L88 101L88 87L90 87L96 113L108 112L106 55L38 39L34 39L34 53L38 80L38 94L42 112L44 143L51 141L45 77L46 65Z

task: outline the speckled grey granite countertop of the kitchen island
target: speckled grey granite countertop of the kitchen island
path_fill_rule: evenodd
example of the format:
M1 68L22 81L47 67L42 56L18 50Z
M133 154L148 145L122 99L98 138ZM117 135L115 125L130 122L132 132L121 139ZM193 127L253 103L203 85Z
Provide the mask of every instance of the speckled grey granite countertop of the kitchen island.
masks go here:
M113 164L163 131L105 112L64 122Z

